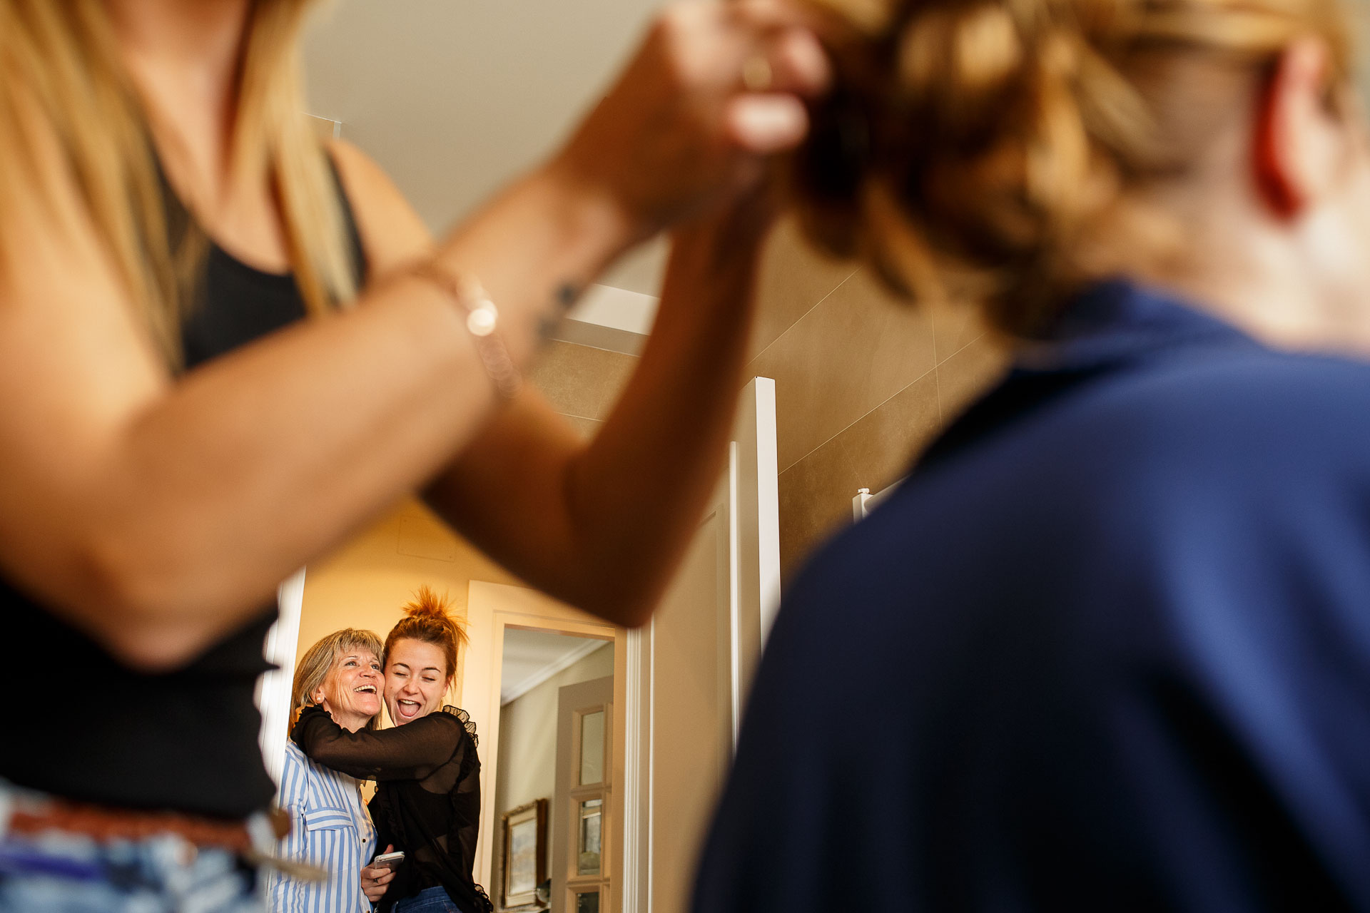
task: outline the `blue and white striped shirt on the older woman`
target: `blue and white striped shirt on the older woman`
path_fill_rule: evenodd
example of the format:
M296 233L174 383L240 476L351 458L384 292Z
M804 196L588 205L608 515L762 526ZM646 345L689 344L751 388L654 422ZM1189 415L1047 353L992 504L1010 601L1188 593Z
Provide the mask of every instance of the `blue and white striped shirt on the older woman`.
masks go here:
M281 808L290 813L290 834L277 853L329 873L304 882L270 871L266 879L271 913L370 913L362 894L362 866L375 853L375 828L362 805L358 782L315 764L295 742L285 743Z

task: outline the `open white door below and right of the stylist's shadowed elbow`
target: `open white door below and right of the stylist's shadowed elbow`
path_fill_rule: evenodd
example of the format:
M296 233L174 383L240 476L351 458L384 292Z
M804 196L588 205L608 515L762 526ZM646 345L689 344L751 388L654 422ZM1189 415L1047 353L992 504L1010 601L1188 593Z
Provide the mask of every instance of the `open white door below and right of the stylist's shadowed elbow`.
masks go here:
M755 378L682 568L651 624L629 636L623 913L688 908L700 840L780 601L778 505L775 382Z

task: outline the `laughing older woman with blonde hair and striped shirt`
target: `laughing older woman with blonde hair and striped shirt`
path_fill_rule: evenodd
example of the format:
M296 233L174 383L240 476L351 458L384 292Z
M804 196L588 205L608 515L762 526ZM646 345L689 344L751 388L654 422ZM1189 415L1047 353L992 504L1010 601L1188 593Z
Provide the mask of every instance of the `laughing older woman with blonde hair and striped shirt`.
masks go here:
M381 713L384 649L379 636L356 628L319 639L295 667L290 687L295 716L319 708L348 732L374 730ZM288 741L277 805L290 820L290 832L278 847L279 858L312 866L326 877L270 872L267 909L367 913L371 903L360 879L362 868L375 854L375 828L362 803L358 780L311 761Z

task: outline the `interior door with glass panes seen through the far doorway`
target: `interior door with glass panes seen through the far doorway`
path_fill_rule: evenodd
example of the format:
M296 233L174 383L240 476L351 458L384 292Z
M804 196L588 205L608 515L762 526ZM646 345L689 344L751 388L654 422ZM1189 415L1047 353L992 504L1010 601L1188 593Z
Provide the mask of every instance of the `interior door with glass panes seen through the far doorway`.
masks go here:
M612 906L614 678L567 684L556 705L552 809L552 909L610 913Z

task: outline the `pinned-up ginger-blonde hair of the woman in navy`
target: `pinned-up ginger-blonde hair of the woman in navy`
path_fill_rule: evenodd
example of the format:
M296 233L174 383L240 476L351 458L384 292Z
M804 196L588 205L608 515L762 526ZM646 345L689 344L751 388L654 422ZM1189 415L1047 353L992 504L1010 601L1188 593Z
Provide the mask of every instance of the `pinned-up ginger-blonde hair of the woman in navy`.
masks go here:
M837 71L796 159L810 235L1015 337L1092 278L1182 256L1147 189L1189 172L1289 42L1326 41L1329 103L1349 83L1337 0L808 1Z

